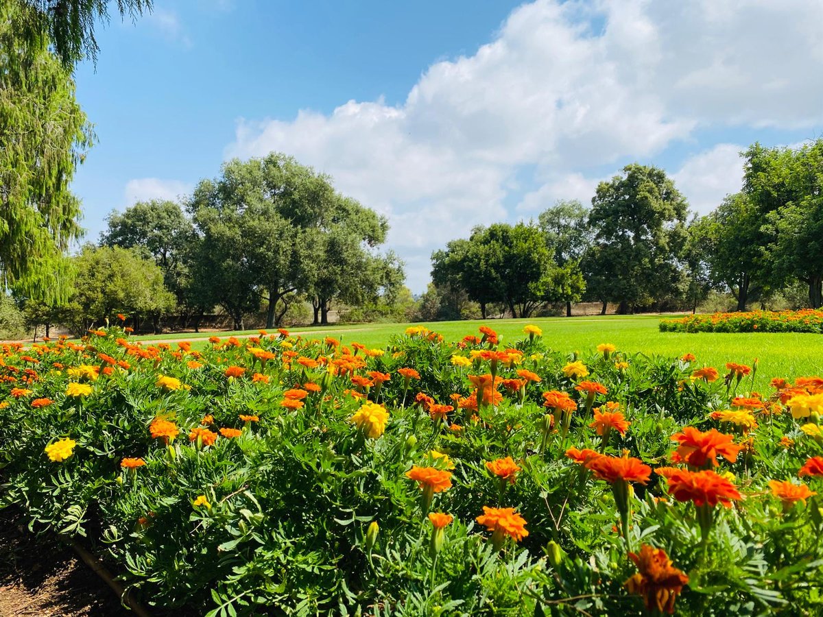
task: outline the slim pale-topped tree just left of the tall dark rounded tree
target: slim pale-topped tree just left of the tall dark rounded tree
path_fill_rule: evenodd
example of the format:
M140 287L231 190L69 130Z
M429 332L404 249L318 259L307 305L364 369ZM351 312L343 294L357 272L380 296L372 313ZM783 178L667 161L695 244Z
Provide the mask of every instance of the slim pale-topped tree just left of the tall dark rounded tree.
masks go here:
M546 236L558 266L554 287L556 295L566 305L566 317L571 317L571 305L582 299L586 290L580 262L591 244L586 221L587 211L577 200L559 201L540 213L538 225Z

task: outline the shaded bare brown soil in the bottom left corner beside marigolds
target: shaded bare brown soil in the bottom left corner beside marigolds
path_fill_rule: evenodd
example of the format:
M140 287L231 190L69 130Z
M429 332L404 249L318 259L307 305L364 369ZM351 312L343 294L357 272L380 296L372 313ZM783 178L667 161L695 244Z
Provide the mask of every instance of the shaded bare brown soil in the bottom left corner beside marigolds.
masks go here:
M128 617L119 598L56 540L35 538L0 512L0 617Z

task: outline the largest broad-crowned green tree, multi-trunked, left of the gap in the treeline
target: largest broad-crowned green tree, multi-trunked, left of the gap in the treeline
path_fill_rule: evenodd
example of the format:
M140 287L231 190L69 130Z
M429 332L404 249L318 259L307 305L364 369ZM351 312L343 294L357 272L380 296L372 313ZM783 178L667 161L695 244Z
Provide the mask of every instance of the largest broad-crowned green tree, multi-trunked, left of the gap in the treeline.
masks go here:
M195 295L220 304L238 329L261 299L267 327L295 292L316 299L325 323L332 299L374 301L402 282L402 263L371 250L384 242L386 220L286 155L230 160L220 178L198 184L188 210L199 244L192 276L209 281Z

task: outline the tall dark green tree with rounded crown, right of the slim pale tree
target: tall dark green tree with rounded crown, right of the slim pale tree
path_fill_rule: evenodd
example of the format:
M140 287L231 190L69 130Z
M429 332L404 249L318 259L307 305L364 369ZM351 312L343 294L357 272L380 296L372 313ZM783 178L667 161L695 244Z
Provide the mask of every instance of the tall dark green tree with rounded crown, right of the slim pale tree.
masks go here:
M593 251L589 281L605 303L634 311L661 295L677 293L678 258L686 241L686 199L663 169L626 165L597 186L588 214Z

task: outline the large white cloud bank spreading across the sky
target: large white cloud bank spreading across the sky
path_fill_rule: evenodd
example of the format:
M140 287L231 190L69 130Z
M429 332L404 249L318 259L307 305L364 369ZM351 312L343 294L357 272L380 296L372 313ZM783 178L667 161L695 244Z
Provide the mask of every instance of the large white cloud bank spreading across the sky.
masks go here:
M286 151L332 174L389 217L422 290L433 248L557 198L588 202L604 168L695 128L823 123L821 69L820 2L537 0L477 53L428 67L402 104L241 119L226 154ZM701 146L677 180L704 211L737 190L739 161L738 146Z

